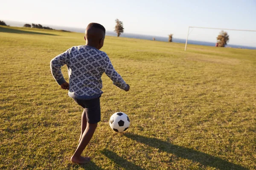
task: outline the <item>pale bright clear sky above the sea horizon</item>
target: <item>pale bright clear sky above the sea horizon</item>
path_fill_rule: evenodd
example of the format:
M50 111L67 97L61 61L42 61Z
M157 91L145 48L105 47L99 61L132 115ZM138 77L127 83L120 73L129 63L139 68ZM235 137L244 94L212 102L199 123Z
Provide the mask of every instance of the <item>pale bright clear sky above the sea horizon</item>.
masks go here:
M256 0L0 0L0 20L124 31L186 39L188 26L256 30ZM7 23L8 24L8 23ZM190 29L189 39L215 42L221 30ZM225 30L224 30L225 31ZM256 46L256 32L227 31L230 44Z

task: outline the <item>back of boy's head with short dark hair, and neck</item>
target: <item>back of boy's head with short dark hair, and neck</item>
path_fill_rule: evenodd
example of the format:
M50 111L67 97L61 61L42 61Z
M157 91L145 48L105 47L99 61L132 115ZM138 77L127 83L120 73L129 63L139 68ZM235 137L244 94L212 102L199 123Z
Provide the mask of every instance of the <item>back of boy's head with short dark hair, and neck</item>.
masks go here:
M84 34L84 40L86 40L86 45L90 45L98 50L102 48L104 44L106 30L104 26L98 23L90 23Z

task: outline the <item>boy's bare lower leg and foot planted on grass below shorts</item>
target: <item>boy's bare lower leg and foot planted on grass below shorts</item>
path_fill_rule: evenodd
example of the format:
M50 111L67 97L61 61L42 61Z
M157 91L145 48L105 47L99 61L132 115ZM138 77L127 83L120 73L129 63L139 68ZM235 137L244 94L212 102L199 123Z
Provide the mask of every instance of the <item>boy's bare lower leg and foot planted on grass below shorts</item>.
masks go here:
M93 133L95 132L96 127L97 127L97 123L89 124L87 122L86 129L84 130L84 133L81 137L79 145L76 149L76 152L71 157L71 161L79 163L79 164L84 164L84 163L90 161L89 157L82 157L81 153L83 152L83 150L87 146L87 144L90 142L90 139L93 137Z

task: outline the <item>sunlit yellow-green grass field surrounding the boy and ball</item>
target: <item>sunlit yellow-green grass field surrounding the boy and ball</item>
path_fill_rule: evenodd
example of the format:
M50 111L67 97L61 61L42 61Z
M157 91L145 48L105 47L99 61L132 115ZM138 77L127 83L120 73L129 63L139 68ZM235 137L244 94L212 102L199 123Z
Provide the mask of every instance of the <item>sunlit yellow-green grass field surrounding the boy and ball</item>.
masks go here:
M102 76L102 121L83 156L82 108L49 62L83 34L0 27L0 169L255 170L256 50L106 37L105 51L131 86ZM62 69L67 78L67 69ZM122 111L125 133L109 127Z

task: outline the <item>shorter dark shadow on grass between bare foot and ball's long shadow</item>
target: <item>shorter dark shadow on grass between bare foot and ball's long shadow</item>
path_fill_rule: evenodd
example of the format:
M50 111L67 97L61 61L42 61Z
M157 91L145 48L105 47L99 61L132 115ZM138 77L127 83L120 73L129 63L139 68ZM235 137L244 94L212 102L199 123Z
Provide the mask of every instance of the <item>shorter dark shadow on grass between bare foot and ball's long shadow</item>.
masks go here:
M110 151L110 150L102 150L101 151L105 156L107 156L109 159L111 159L111 161L115 162L116 164L118 164L119 166L128 169L128 170L144 170L143 168L129 162L126 161L125 159L123 159L122 157L116 155L116 153Z

